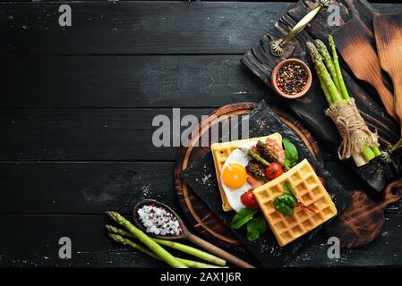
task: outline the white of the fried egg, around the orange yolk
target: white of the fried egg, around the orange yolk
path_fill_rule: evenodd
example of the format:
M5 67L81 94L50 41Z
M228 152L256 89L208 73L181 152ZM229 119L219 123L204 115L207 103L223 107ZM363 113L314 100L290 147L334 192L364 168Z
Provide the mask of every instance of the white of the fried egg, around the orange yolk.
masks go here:
M257 141L251 141L243 144L240 147L250 148L255 146ZM239 147L235 149L225 161L225 164L222 166L222 172L220 174L220 181L222 182L222 189L225 191L227 195L227 202L229 205L238 213L242 208L244 208L244 204L242 203L241 197L242 195L249 189L252 189L252 185L250 185L247 181L245 181L244 185L238 189L231 189L227 187L225 181L223 181L223 170L227 167L228 164L241 164L244 167L249 163L249 156L245 155L242 151L239 150Z

